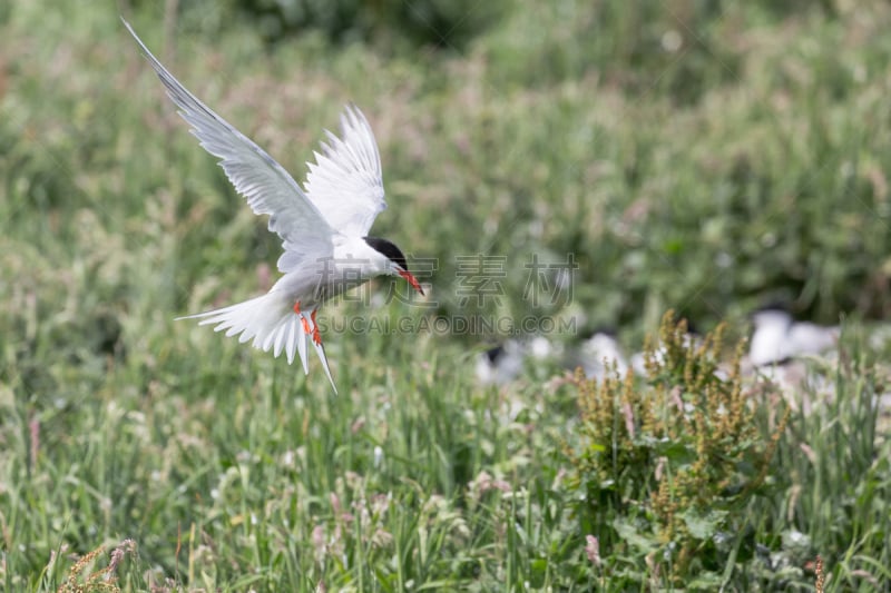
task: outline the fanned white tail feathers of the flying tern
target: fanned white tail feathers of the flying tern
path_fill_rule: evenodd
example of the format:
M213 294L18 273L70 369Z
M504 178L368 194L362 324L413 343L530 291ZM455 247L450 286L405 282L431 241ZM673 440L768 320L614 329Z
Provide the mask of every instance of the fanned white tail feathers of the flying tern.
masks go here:
M253 339L255 348L263 352L272 350L275 357L284 352L287 356L287 364L294 362L296 354L300 356L305 374L310 373L307 346L312 344L322 360L331 386L334 387L334 393L337 393L324 347L322 344L315 344L312 340L312 334L305 330L305 327L312 329L311 315L312 310L294 313L287 296L273 290L222 309L177 317L177 319L200 319L198 325L214 325L214 332L225 330L226 337L238 336L238 342L242 344Z

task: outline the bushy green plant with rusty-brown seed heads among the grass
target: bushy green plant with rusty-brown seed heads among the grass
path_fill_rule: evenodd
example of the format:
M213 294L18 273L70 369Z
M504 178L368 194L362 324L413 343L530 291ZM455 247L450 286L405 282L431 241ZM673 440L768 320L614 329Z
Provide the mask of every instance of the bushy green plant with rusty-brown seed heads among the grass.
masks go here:
M744 541L746 506L787 422L786 412L773 434L758 429L740 373L743 343L724 368L723 333L696 343L669 312L643 382L631 370L576 376L579 446L567 454L582 531L601 548L636 552L668 581L718 579L754 544Z

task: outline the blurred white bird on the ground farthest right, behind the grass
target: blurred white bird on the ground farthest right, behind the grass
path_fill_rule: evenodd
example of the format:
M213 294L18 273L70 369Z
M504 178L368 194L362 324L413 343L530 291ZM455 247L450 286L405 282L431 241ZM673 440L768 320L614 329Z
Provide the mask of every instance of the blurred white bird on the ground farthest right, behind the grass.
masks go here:
M839 327L794 322L779 308L764 308L752 315L755 332L748 347L754 366L780 364L805 354L820 354L839 342Z

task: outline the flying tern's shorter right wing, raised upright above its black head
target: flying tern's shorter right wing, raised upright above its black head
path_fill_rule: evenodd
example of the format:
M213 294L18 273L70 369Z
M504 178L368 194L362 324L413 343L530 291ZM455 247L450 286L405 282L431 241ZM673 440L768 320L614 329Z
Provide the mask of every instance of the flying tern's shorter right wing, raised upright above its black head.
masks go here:
M354 105L341 115L341 137L325 130L322 154L307 162L304 188L329 225L347 237L368 235L386 208L381 155L365 116Z

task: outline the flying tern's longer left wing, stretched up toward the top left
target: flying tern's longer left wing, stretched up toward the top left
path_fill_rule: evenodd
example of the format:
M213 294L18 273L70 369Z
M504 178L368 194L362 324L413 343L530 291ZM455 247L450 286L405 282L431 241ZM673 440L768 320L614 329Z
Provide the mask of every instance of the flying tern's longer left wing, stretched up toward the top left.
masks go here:
M334 230L294 178L266 151L186 90L126 20L124 24L167 87L167 95L179 107L179 115L192 125L192 134L200 140L202 147L219 157L219 166L254 214L270 215L270 230L283 240L285 254L282 257L287 256L296 264L304 257L330 256Z

